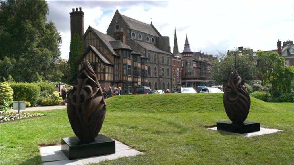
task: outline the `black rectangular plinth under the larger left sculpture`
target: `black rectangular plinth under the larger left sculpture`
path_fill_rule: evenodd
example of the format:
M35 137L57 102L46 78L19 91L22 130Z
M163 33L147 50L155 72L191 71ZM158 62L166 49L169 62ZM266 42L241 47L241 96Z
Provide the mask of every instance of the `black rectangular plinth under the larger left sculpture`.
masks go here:
M94 142L81 142L77 137L61 139L61 150L71 159L115 153L115 141L99 134Z

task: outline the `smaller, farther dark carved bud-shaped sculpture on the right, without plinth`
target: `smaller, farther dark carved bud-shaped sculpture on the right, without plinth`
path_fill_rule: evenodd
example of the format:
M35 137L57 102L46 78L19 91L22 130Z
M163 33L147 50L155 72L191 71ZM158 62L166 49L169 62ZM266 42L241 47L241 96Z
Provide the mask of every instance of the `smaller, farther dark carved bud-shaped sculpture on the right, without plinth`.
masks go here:
M223 105L229 119L235 124L242 124L250 110L250 96L236 70L230 75L223 94Z

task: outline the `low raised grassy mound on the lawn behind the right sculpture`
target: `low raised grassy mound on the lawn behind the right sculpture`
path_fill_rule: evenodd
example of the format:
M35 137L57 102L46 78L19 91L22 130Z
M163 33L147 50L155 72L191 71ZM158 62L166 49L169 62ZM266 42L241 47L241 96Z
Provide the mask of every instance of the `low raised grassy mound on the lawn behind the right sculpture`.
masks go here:
M108 111L128 112L214 112L224 111L222 93L120 95L106 99ZM270 104L251 97L250 111L272 111Z

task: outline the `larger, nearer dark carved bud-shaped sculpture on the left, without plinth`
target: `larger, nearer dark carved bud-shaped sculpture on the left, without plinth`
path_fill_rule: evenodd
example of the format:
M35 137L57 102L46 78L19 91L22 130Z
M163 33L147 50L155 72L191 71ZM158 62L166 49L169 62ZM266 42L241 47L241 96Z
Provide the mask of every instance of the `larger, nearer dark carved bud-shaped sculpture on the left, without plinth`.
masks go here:
M94 141L106 113L101 86L88 60L78 74L69 96L67 113L71 128L81 141Z

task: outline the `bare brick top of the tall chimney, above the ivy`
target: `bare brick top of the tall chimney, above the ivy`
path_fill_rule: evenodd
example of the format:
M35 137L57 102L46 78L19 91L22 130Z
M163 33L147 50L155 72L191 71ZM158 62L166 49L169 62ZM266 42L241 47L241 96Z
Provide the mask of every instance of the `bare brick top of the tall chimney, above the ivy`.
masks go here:
M71 16L71 36L73 34L78 34L81 36L81 40L83 42L83 35L84 35L84 12L82 8L76 8L76 11L72 9L72 12L69 13Z

